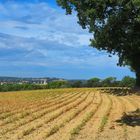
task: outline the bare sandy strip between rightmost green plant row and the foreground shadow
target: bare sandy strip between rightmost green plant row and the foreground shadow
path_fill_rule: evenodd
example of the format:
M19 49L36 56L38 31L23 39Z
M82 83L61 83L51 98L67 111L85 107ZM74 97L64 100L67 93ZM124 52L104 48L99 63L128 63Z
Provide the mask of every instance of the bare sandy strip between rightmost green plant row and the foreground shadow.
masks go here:
M108 123L104 127L104 131L100 133L99 140L125 140L124 128L117 122L121 119L123 112L125 111L122 103L117 96L110 96L112 98L112 109L108 118Z

